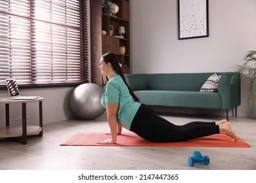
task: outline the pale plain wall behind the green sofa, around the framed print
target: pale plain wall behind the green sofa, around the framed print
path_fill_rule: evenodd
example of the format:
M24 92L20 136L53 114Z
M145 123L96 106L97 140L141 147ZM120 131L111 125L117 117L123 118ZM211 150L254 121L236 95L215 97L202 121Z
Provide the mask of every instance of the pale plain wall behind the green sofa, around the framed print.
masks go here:
M177 0L131 0L132 73L234 71L245 52L256 50L256 1L209 0L209 37L178 39ZM239 116L247 110L245 76Z

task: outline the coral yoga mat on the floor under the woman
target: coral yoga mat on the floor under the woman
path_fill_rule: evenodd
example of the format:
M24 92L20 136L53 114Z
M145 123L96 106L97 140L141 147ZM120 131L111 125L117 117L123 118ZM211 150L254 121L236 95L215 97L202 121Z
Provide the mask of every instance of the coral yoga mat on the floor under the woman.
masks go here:
M185 142L150 142L135 133L122 133L117 136L116 144L96 144L98 141L109 139L104 133L76 133L60 146L201 146L201 147L250 147L249 144L238 139L232 142L226 135L216 134Z

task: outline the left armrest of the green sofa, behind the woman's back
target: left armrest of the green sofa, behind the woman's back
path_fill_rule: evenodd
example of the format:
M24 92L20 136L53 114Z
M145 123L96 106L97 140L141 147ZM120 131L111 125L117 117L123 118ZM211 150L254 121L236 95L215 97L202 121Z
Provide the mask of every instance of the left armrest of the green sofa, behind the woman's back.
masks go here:
M146 75L144 74L125 74L125 80L131 90L146 90Z

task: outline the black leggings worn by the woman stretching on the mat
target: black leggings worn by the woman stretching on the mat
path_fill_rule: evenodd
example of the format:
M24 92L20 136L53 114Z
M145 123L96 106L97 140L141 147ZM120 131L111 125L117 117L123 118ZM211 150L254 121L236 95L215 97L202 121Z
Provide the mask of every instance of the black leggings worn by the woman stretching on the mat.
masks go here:
M131 124L131 131L152 142L181 142L219 133L215 122L190 122L175 125L156 115L152 108L140 105Z

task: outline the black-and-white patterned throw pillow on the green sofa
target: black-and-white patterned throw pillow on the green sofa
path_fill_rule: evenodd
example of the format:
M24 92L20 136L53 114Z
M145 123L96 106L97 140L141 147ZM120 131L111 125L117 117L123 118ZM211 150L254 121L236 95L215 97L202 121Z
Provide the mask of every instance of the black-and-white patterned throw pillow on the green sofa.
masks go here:
M200 92L217 92L219 78L221 78L221 76L217 74L209 76L201 87Z

